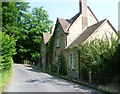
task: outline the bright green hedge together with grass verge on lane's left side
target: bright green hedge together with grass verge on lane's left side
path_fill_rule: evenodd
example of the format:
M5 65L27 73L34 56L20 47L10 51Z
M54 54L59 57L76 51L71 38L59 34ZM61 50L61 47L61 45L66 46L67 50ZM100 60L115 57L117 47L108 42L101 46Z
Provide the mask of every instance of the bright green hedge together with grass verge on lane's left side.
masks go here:
M4 32L0 32L0 92L5 88L13 64L13 55L16 54L16 40Z

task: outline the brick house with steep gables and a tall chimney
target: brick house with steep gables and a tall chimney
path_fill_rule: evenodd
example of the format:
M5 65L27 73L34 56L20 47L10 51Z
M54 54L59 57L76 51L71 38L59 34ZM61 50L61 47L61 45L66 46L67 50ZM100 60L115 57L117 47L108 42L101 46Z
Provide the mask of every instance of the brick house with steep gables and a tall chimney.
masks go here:
M74 17L71 19L57 18L53 33L53 63L57 65L59 55L63 54L67 64L67 75L79 78L79 52L73 48L95 38L111 36L116 37L117 32L109 20L98 21L90 7L87 6L87 0L80 0L79 13Z

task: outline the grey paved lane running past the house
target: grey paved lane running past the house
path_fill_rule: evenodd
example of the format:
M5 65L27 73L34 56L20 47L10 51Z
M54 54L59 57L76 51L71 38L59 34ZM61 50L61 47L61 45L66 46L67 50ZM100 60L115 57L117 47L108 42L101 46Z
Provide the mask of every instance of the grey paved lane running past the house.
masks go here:
M89 92L93 94L96 91L22 64L14 64L13 76L5 92Z

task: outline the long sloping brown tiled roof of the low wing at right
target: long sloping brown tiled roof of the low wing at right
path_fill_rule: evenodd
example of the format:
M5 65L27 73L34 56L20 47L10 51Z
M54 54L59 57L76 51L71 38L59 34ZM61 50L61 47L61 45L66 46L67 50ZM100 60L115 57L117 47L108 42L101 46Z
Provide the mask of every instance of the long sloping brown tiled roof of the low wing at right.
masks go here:
M104 23L104 21L106 21L106 19L92 26L87 27L87 29L85 29L85 31L80 36L78 36L67 48L72 48L79 44L82 44L88 37L90 37Z

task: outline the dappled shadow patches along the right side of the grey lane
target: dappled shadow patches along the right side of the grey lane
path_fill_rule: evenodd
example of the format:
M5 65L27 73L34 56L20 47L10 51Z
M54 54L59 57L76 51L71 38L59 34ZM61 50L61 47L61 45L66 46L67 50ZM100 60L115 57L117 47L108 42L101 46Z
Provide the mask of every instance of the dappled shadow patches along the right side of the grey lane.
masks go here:
M69 82L67 80L51 76L47 73L41 72L40 70L32 68L32 67L28 67L27 70L32 71L32 72L36 72L36 73L40 73L40 75L42 75L43 77L28 79L28 80L25 81L26 83L51 84L51 85L55 85L55 86L65 86L65 87L71 87L72 86L73 88L75 88L78 91L79 90L85 90L85 91L91 91L92 90L92 89L87 88L85 86L77 85L77 84Z

